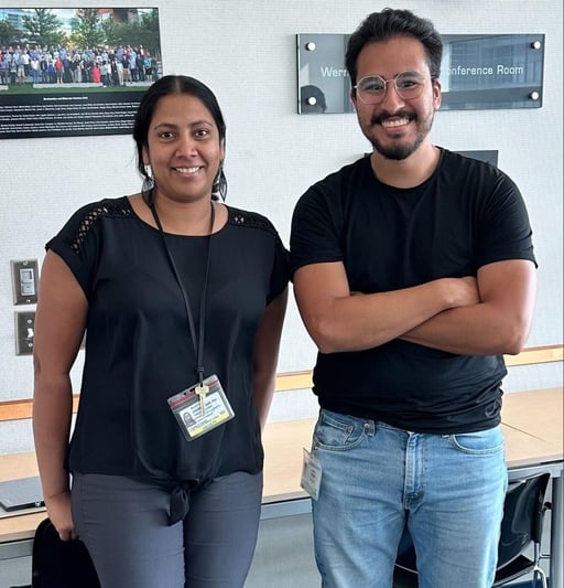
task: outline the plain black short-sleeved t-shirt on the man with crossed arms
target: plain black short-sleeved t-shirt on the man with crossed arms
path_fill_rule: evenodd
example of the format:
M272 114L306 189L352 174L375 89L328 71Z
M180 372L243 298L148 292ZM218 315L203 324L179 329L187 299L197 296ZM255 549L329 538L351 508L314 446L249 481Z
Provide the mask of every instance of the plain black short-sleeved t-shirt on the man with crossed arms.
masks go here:
M291 270L343 261L351 291L386 292L487 264L535 263L514 183L497 168L442 149L413 189L378 181L369 158L311 186L294 211ZM323 408L420 432L468 432L500 420L501 356L467 356L392 340L360 352L318 353Z

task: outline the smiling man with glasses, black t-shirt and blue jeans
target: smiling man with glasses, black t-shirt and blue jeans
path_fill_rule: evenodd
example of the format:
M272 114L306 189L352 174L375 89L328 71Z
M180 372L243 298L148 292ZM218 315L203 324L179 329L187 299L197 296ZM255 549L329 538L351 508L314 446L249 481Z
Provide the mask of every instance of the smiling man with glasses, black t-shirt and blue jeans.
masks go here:
M513 182L431 142L441 58L430 21L366 18L346 65L372 153L310 188L292 221L294 292L319 350L308 467L325 588L391 587L404 531L421 588L494 580L502 354L529 334L535 260Z

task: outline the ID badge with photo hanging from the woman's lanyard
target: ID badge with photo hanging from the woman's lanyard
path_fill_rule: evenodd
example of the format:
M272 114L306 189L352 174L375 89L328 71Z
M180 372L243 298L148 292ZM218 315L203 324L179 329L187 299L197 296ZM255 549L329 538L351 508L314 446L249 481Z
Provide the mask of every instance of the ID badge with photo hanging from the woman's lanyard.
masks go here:
M202 385L194 384L167 399L187 441L219 427L235 417L219 378L214 374Z

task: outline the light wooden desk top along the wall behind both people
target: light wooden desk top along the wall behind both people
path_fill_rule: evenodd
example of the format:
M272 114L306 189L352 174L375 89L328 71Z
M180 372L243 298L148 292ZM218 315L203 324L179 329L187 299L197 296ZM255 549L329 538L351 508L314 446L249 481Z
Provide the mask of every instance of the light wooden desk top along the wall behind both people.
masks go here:
M549 388L506 394L501 413L509 469L563 460L563 392ZM302 449L311 447L314 418L271 423L263 435L263 502L303 498L300 488ZM0 480L37 471L35 455L0 457ZM0 542L30 538L45 513L0 518Z

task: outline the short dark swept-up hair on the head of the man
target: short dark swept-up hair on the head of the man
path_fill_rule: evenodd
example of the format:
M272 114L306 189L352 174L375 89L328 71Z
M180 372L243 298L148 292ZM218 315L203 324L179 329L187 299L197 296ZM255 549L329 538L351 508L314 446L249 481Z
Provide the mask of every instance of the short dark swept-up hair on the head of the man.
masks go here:
M443 41L433 23L427 19L416 17L410 10L384 8L381 12L369 14L348 40L345 64L352 86L357 83L358 54L365 45L398 36L411 36L423 44L431 78L433 81L438 78L443 58Z

